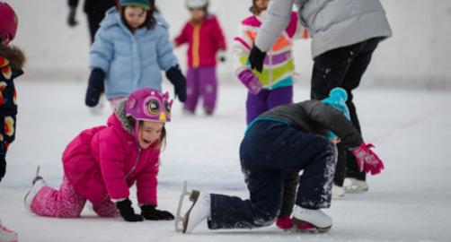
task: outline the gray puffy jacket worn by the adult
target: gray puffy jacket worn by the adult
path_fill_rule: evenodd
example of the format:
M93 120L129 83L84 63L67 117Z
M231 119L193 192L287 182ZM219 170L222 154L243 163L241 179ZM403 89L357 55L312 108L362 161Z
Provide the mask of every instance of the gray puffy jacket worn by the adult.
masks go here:
M296 5L312 40L312 56L367 39L392 36L379 0L273 0L256 46L267 51L285 30Z

